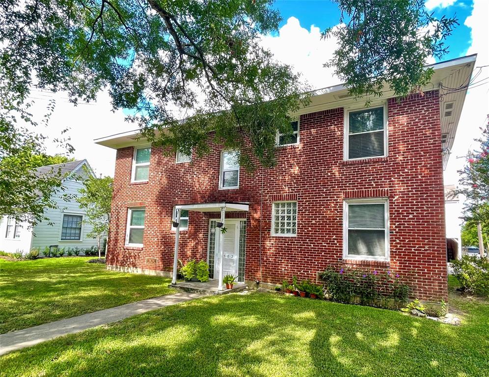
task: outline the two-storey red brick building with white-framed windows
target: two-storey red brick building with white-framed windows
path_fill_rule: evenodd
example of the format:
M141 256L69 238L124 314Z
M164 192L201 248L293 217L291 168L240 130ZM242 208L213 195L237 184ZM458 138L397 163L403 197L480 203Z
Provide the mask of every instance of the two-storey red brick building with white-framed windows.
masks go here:
M198 158L167 156L138 131L97 139L117 150L108 269L170 275L180 212L178 258L207 260L211 278L389 270L414 296L446 301L443 168L475 58L437 63L419 93L386 89L369 108L343 85L316 91L294 114L292 140L277 135L277 165L254 173L212 142Z

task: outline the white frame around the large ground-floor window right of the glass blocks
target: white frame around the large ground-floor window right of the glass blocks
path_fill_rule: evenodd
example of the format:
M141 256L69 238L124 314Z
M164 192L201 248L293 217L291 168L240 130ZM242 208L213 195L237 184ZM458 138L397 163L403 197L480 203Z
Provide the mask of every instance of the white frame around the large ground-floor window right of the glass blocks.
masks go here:
M385 226L385 255L384 256L364 256L348 254L348 209L349 205L355 204L383 204L384 205L384 226ZM366 229L367 230L367 229ZM371 229L379 230L379 229ZM345 199L343 201L343 259L389 261L390 259L390 226L389 226L389 199L388 198L361 198Z

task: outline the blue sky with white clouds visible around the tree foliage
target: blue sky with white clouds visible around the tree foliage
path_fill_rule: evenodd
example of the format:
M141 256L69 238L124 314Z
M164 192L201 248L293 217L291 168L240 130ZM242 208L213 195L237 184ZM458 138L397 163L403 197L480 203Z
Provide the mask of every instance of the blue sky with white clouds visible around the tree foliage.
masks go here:
M336 41L320 38L321 31L339 22L340 12L336 4L329 0L278 0L273 6L280 11L283 20L278 32L262 36L262 45L270 49L277 60L292 65L313 88L341 83L332 69L323 67L335 50ZM489 77L489 0L427 0L425 6L436 17L456 15L459 19L460 26L447 40L449 53L441 60L478 54L476 67L486 66L481 68L479 78ZM39 127L38 132L53 140L68 128L64 135L70 138L75 147L75 152L69 157L87 159L97 174L113 176L115 151L95 144L93 139L133 130L135 127L125 122L123 110L111 112L108 93L100 93L96 103L79 104L77 107L70 104L62 93L35 90L32 96L36 102L33 110L35 116L42 116L50 99L56 100L49 126ZM467 93L454 146L444 172L445 184L457 183L457 170L465 162L463 158L457 157L464 156L468 149L477 146L473 139L479 137L480 127L484 125L488 113L489 80ZM48 141L47 152L59 153L59 147Z

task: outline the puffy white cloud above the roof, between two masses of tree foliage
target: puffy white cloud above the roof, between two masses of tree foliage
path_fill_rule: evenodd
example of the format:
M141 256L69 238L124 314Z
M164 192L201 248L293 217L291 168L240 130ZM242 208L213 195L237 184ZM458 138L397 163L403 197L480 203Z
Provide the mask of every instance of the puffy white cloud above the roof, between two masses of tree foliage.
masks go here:
M297 18L290 17L280 28L278 35L263 36L261 44L269 49L277 60L293 66L313 89L341 82L334 75L333 69L323 66L333 56L337 40L322 40L319 27L313 25L307 30L300 26Z

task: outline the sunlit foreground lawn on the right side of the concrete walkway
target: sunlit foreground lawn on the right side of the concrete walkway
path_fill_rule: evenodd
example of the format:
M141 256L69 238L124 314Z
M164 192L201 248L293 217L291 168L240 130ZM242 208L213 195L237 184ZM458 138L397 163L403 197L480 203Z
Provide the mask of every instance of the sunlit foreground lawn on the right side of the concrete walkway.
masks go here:
M488 302L452 301L461 326L269 293L213 296L9 353L1 373L488 376Z

